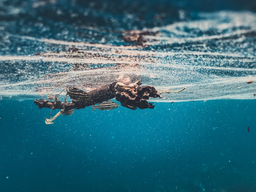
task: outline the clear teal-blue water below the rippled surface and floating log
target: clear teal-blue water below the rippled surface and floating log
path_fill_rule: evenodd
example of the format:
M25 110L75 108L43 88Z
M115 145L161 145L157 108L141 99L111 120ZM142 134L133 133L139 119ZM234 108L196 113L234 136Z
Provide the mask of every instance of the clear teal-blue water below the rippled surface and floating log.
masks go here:
M254 100L87 107L52 125L31 100L0 104L1 191L256 191Z

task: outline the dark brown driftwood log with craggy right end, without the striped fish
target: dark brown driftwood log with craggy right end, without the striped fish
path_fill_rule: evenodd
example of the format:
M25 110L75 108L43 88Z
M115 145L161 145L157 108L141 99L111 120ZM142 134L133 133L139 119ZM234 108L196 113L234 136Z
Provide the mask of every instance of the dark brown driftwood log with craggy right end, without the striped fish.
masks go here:
M102 103L103 101L115 98L117 101L121 102L122 106L129 109L135 110L137 107L140 109L153 109L154 105L147 102L149 97L162 98L162 96L154 87L140 85L140 81L136 81L135 83L114 82L109 85L102 86L98 89L92 89L88 91L88 93L91 95L91 98L86 100L72 100L69 103L63 103L60 101L50 102L45 99L36 99L34 103L38 106L39 109L82 109L87 106L91 106L96 103Z

